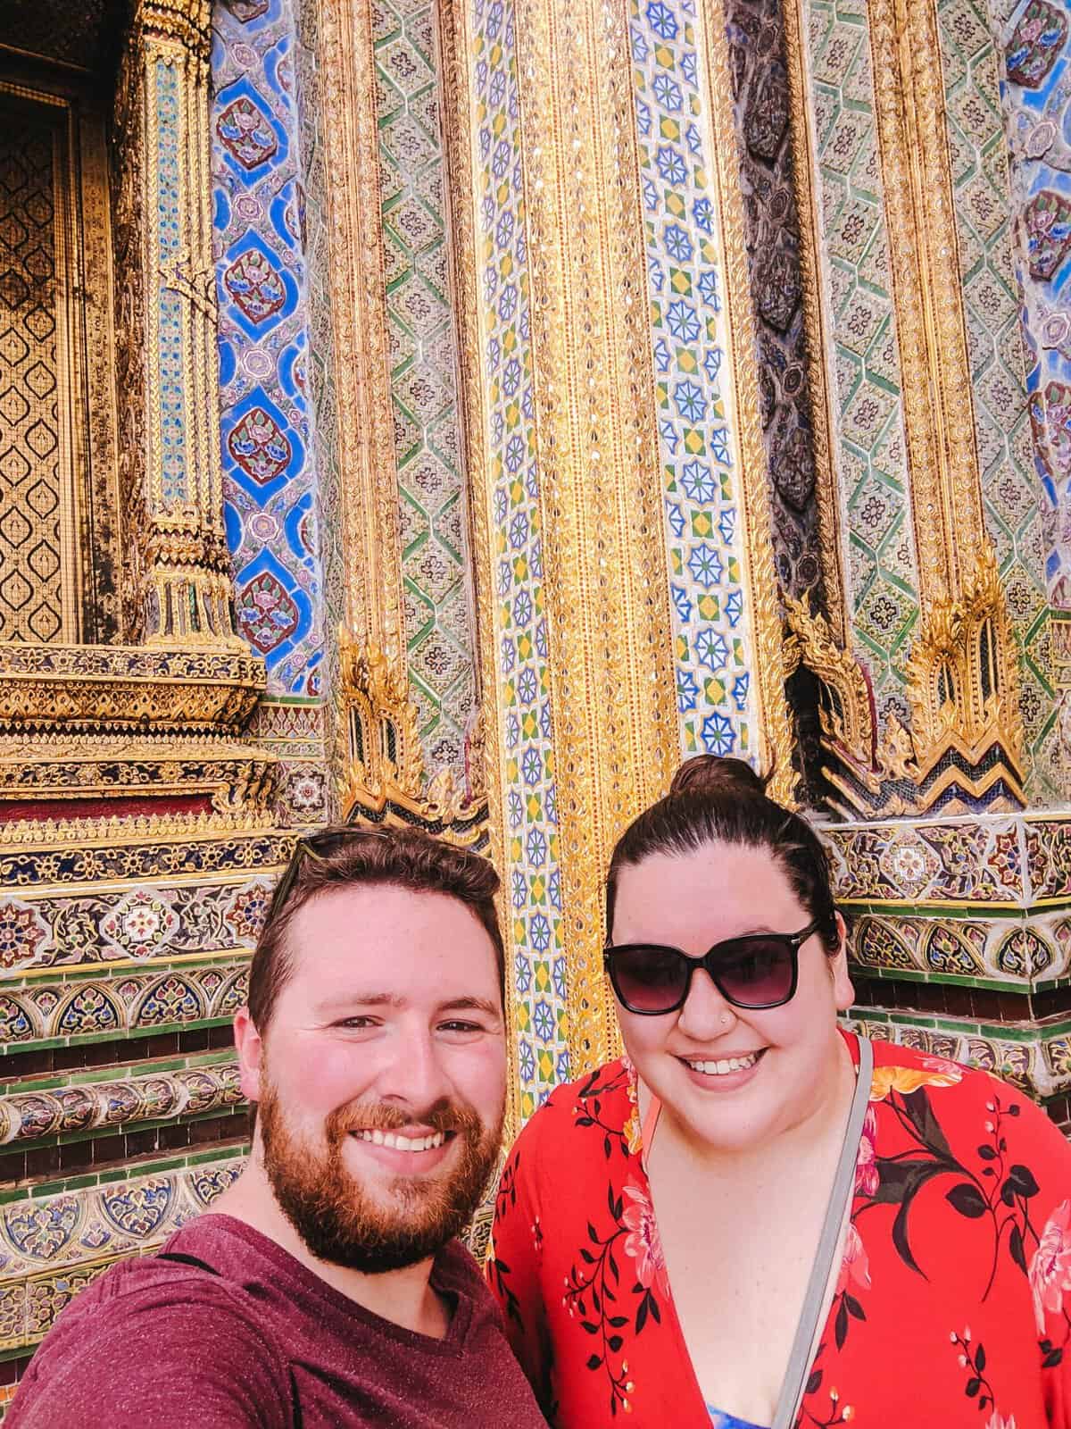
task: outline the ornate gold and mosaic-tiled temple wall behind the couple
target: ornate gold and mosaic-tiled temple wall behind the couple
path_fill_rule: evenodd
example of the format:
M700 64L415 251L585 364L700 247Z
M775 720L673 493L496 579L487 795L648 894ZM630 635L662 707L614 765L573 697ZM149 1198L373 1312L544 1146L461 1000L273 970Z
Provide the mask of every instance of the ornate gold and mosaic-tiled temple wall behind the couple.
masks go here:
M496 860L511 1130L617 1050L605 863L694 752L823 825L855 1025L1071 1127L1068 43L139 0L131 643L0 644L0 1410L237 1173L230 1019L328 819Z

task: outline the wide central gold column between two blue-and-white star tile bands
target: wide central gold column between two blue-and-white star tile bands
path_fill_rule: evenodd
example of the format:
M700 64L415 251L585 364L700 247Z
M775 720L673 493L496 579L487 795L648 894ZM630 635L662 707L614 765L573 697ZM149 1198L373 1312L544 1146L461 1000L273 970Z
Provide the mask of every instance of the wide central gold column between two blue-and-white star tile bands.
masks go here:
M458 50L471 56L471 17L467 7L456 14ZM514 14L561 933L571 1070L581 1075L617 1043L600 956L605 866L675 757L668 582L625 6L520 0ZM468 196L474 203L471 183ZM478 230L478 214L468 221ZM467 297L478 302L471 287ZM484 610L491 466L473 453ZM490 629L483 639L494 639ZM501 702L500 677L486 689ZM500 730L503 717L496 709L488 726Z

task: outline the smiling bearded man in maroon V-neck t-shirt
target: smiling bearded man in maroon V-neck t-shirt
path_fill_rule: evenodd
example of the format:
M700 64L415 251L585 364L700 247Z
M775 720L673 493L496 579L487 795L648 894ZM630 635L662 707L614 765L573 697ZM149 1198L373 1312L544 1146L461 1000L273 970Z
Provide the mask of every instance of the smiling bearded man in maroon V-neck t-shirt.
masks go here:
M11 1429L543 1429L456 1239L501 1137L497 883L416 830L298 845L234 1023L246 1170L79 1296Z

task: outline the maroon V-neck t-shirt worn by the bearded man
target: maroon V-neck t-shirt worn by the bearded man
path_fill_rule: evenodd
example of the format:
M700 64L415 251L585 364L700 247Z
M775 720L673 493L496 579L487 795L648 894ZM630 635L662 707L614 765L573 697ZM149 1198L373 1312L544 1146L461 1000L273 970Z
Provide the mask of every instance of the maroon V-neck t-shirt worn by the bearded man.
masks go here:
M106 1272L34 1355L4 1429L545 1429L456 1240L431 1273L454 1310L441 1340L373 1315L231 1216L200 1216L163 1253L211 1270L143 1256Z

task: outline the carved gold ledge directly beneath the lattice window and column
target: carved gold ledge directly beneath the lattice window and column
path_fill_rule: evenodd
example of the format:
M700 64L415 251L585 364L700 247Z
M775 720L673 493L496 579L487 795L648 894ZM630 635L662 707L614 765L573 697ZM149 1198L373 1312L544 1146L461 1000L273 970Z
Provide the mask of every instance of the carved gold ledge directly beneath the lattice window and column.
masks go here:
M0 733L237 733L264 690L243 653L0 644Z

